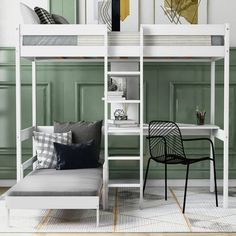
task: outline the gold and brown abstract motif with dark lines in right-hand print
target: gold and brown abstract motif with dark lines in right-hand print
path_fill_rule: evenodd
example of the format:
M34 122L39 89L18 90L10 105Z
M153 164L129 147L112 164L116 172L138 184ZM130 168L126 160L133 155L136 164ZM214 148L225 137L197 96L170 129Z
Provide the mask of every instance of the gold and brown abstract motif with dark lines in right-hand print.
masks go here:
M165 0L162 10L171 23L182 24L183 17L190 24L198 24L198 7L201 0Z

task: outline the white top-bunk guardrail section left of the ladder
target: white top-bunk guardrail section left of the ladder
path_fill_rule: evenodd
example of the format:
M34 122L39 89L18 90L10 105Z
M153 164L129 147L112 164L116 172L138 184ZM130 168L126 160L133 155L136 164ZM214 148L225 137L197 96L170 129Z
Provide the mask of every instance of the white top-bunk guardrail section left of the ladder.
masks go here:
M28 45L25 36L32 37L78 37L75 43L68 45ZM80 36L102 36L102 43L78 45ZM20 25L19 45L21 57L104 57L107 51L106 25Z

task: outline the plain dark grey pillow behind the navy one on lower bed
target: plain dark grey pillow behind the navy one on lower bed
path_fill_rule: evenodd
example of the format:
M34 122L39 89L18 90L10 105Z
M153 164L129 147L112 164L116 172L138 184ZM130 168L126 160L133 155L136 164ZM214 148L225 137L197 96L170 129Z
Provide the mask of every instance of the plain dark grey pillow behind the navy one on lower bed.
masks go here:
M96 157L99 160L101 149L102 120L95 122L54 122L54 132L64 133L72 131L72 142L82 143L93 139L96 146Z

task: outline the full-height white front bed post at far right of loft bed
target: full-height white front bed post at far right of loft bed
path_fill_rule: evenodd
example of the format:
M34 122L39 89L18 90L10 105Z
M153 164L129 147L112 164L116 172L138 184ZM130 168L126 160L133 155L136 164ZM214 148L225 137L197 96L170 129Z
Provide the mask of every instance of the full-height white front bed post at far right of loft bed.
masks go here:
M223 207L228 207L229 168L229 24L225 24L224 56L224 176Z

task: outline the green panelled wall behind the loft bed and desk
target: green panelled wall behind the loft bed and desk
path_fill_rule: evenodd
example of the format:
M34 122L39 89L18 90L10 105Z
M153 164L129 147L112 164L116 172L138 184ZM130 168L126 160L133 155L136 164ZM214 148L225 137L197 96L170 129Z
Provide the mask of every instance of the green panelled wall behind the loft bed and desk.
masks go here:
M236 178L236 49L231 49L230 60L230 178ZM31 124L31 64L22 60L22 125ZM103 118L103 64L102 63L37 63L37 112L40 125L52 125L53 120L98 120ZM196 105L204 107L209 121L210 65L204 63L145 63L145 120L173 119L195 123ZM222 126L223 65L216 67L216 122ZM15 61L12 48L0 49L0 179L15 178ZM222 143L216 143L217 173L222 177ZM113 153L137 152L138 139L113 137ZM204 143L186 146L189 155L208 154ZM31 153L30 144L24 144L24 159ZM145 145L144 163L148 149ZM209 163L191 167L192 178L208 178ZM169 178L184 178L183 166L169 167ZM113 177L138 176L138 162L114 162ZM163 177L163 166L151 166L152 178Z

